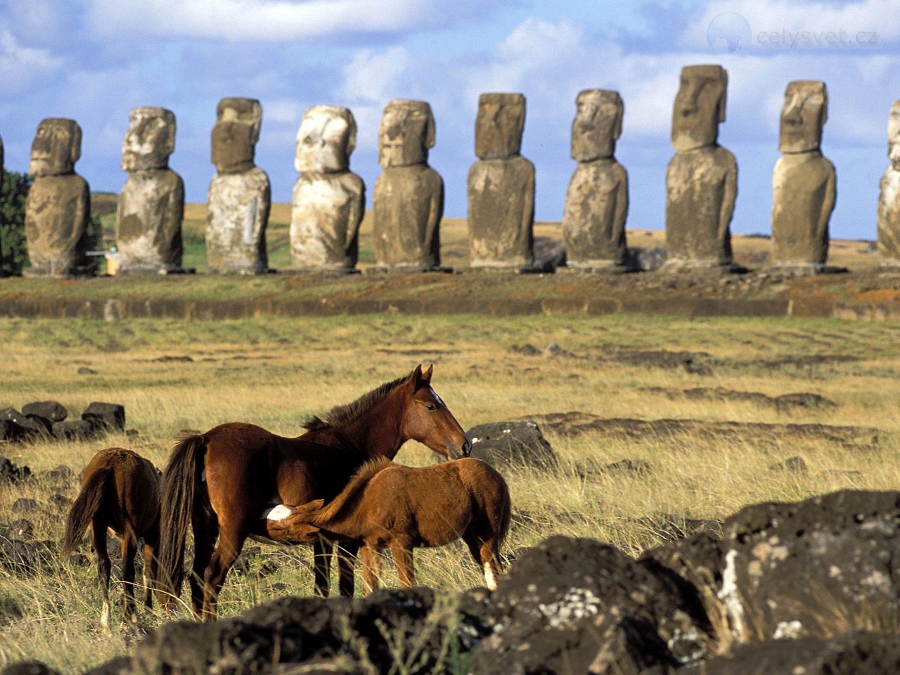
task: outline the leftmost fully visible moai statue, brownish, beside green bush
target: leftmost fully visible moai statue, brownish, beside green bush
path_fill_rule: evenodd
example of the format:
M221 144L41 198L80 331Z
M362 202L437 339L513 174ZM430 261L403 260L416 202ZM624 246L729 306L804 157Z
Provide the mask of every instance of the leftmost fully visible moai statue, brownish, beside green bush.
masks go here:
M87 260L91 193L75 173L81 157L81 127L49 118L38 125L28 173L34 177L25 202L25 242L31 267L26 276L89 274Z

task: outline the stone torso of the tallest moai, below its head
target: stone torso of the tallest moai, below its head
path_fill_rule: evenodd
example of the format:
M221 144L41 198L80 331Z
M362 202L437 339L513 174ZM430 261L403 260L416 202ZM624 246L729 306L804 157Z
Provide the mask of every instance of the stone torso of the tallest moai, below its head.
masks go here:
M666 171L666 251L670 260L731 263L729 223L737 162L720 146L676 153Z

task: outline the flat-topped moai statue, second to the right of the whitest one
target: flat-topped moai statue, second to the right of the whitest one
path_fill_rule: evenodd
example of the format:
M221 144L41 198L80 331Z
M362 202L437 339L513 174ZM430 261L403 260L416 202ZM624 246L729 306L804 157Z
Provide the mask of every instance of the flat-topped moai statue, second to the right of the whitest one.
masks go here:
M469 266L528 270L535 261L535 166L519 155L525 96L482 94L469 169Z

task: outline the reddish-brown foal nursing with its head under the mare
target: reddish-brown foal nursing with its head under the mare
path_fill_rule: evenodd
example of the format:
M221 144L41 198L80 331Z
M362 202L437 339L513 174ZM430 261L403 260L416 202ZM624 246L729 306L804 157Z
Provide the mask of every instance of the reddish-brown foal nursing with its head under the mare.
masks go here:
M362 542L366 595L377 588L384 548L391 549L401 587L408 588L416 582L414 548L447 545L461 536L487 587L497 588L500 546L509 531L509 488L481 460L413 468L376 459L327 506L314 500L290 509L289 516L269 523L272 535L302 537L320 529Z

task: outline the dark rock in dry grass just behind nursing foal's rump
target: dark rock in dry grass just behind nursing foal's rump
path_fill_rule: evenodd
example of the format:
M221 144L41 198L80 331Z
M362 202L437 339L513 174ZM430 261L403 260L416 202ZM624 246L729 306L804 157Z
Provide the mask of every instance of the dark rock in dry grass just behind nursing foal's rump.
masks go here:
M480 424L465 435L472 443L472 456L488 464L542 468L557 464L554 449L530 419Z

